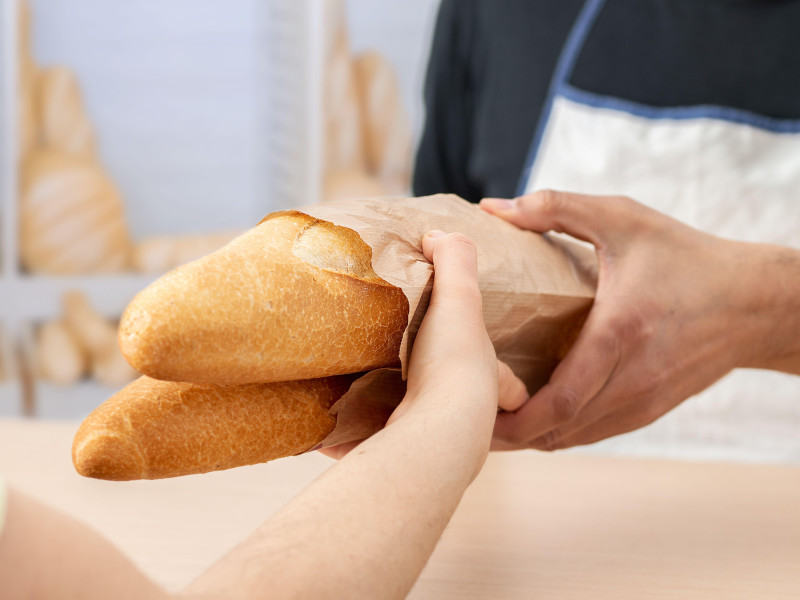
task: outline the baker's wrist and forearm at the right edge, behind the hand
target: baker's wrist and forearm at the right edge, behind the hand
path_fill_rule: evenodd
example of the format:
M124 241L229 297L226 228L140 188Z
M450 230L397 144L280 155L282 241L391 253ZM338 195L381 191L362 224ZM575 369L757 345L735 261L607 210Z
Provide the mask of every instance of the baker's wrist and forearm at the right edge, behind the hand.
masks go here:
M754 316L761 335L748 367L800 375L800 250L753 245Z

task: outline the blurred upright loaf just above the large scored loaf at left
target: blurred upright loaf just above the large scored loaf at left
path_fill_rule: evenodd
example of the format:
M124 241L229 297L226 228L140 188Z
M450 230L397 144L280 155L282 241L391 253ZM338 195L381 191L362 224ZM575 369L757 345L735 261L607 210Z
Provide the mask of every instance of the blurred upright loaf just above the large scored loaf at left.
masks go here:
M72 71L66 67L43 69L37 78L36 99L45 148L66 154L94 155L94 130Z

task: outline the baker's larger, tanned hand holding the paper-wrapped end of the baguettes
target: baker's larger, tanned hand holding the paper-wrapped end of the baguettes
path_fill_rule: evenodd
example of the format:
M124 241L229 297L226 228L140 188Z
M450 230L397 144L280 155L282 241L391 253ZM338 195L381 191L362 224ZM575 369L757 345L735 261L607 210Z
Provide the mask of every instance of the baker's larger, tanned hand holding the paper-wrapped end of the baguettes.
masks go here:
M776 247L707 235L622 197L542 191L481 207L591 242L599 263L583 331L549 383L498 416L496 449L555 450L632 431L778 351L778 319L759 285Z

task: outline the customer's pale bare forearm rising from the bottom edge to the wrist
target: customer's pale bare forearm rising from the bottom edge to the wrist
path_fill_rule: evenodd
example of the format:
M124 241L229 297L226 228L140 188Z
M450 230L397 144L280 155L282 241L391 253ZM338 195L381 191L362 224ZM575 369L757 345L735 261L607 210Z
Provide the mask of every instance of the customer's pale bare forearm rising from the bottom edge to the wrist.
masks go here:
M187 593L404 598L488 449L495 407L455 408L411 405Z

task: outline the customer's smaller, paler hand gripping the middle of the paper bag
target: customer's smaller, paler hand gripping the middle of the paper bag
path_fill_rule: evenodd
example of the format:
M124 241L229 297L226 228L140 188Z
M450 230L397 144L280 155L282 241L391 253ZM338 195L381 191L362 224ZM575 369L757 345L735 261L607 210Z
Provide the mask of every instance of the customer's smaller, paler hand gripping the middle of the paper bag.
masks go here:
M433 263L433 293L414 340L408 392L387 426L423 404L442 408L454 417L456 413L470 417L465 427L473 431L485 428L488 449L498 404L503 410L515 410L528 394L511 369L497 361L486 333L474 244L458 233L433 231L423 238L422 250ZM338 459L359 443L321 452Z

